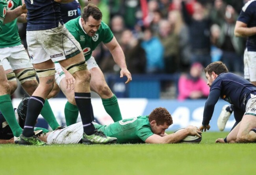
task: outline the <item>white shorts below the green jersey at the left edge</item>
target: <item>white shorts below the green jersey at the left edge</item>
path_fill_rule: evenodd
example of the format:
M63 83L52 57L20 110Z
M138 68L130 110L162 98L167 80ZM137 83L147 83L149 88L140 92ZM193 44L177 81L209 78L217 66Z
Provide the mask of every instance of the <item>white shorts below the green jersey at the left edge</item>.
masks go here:
M28 53L22 44L13 47L0 48L0 60L4 70L33 68Z

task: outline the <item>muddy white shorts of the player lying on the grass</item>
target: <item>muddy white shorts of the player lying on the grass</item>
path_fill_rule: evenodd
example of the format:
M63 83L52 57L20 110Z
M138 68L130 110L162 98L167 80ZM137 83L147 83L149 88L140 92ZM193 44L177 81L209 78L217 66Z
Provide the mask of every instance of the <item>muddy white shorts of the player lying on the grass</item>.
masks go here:
M82 122L75 123L64 129L52 131L47 137L49 144L78 144L83 137Z

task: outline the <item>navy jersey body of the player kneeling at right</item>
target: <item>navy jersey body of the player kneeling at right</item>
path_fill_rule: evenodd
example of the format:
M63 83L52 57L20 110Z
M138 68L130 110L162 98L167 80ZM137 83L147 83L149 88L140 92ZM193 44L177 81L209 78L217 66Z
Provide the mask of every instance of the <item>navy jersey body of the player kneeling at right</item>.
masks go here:
M235 107L245 110L245 105L250 94L256 94L256 87L241 76L232 73L220 74L212 83L210 88L221 91L220 98Z

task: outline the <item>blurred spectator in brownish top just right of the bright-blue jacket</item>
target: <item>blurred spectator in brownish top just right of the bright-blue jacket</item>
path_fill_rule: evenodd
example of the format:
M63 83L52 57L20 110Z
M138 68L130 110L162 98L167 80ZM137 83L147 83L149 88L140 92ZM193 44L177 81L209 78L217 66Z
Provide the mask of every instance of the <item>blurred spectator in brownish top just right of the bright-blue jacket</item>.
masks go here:
M168 20L160 21L158 38L164 47L164 73L174 73L179 68L179 38Z

